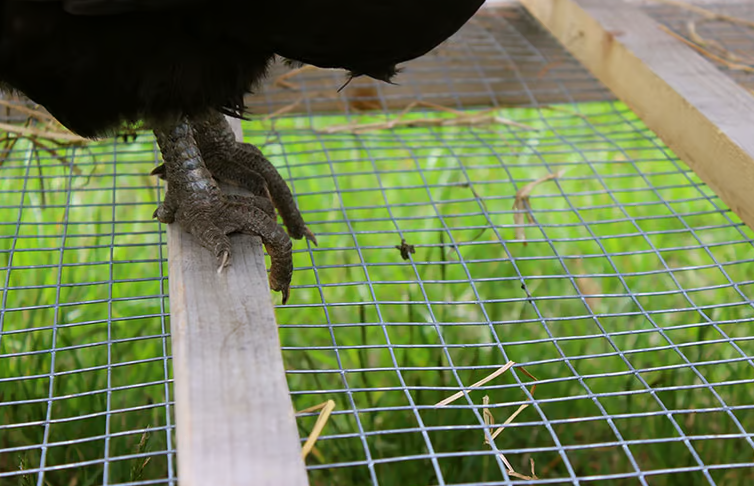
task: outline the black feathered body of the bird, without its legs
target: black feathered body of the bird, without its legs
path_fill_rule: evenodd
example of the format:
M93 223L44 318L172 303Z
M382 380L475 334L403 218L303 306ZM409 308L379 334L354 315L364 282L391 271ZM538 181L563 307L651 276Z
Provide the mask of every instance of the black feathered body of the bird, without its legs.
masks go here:
M277 54L391 82L483 0L0 0L0 88L86 137L243 97Z

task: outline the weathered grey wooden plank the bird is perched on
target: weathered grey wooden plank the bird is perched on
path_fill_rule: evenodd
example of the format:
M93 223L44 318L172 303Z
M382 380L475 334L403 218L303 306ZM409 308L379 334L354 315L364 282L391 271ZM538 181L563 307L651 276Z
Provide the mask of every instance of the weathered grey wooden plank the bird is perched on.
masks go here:
M218 275L214 256L168 225L178 477L308 485L261 240L231 240L232 264Z

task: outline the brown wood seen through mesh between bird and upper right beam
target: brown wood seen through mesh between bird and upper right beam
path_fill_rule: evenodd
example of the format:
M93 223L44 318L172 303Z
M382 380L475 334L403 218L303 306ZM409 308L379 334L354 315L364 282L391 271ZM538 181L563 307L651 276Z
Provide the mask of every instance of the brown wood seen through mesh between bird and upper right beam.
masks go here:
M271 82L246 99L256 115L398 111L425 101L449 108L531 106L604 101L612 93L520 6L480 11L463 29L426 56L404 66L397 86L369 79L346 81L339 70L307 70Z

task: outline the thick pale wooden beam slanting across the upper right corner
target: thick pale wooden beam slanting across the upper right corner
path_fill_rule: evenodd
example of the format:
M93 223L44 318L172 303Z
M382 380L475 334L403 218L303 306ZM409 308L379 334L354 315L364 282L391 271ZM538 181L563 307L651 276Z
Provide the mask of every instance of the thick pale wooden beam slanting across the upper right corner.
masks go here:
M754 228L754 97L627 3L522 3Z

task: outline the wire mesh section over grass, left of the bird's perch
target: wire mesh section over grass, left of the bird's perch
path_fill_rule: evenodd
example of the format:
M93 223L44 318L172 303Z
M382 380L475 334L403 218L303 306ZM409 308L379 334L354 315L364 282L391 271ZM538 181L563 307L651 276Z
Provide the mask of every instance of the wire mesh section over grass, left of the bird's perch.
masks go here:
M3 162L0 484L174 480L165 232L147 147L107 141L61 161L19 142ZM143 466L167 481L138 481Z

